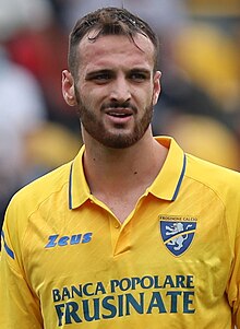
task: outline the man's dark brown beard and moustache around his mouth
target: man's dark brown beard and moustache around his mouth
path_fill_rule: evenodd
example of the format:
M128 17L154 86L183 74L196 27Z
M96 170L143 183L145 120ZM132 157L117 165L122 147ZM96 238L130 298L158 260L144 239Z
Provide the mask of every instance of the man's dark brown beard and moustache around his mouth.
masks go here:
M88 134L94 138L96 141L101 143L107 148L112 149L124 149L130 148L135 144L139 140L142 139L144 133L146 132L153 117L153 106L149 105L145 108L144 116L137 121L134 126L134 129L131 133L124 133L122 130L122 125L115 126L115 130L119 129L119 133L111 131L107 131L103 121L98 120L95 116L94 110L89 110L83 104L79 92L75 90L76 101L77 101L77 114L80 116L80 120L84 127L84 129L88 132ZM128 104L115 104L110 105L112 107L128 107ZM136 111L135 108L134 113Z

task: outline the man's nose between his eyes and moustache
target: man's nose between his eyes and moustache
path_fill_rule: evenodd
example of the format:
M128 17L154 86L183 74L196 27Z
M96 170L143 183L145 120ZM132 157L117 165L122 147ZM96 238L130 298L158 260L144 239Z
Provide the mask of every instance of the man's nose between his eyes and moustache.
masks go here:
M111 84L111 101L128 102L131 99L130 85L124 77L117 77Z

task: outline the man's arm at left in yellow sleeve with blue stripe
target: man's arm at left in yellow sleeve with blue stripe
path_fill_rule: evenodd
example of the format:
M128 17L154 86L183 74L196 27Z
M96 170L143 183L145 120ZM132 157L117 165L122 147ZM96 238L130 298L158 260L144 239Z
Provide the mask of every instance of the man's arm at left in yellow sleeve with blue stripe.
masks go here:
M31 290L21 265L17 225L7 214L1 234L0 328L43 329L39 301Z

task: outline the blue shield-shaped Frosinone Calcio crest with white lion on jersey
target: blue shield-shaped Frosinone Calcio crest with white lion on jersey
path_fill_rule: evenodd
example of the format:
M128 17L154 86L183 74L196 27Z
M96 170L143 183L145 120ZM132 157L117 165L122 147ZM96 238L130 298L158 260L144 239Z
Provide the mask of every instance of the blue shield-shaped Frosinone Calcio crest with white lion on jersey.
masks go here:
M192 244L196 231L195 218L159 215L160 236L164 245L175 256L181 256Z

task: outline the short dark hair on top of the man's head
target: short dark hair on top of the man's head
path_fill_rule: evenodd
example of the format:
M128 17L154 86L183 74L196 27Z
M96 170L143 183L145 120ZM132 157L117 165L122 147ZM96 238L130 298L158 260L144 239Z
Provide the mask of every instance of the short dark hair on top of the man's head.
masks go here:
M69 38L69 56L68 64L70 72L75 75L77 70L77 45L82 38L92 30L96 30L97 34L88 39L94 42L100 35L125 35L134 44L134 36L139 33L149 38L154 45L154 70L157 69L159 56L159 40L157 34L152 27L139 16L132 14L127 9L108 7L98 9L80 19ZM137 45L136 45L137 47Z

